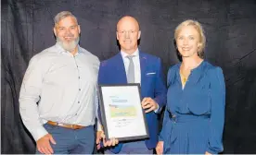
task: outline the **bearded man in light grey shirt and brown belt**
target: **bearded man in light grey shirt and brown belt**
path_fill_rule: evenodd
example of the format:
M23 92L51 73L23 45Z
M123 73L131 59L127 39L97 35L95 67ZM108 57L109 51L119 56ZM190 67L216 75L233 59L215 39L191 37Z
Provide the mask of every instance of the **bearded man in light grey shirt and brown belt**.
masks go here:
M70 12L58 13L54 33L57 43L30 61L19 112L37 153L90 154L95 146L99 60L78 45L80 26Z

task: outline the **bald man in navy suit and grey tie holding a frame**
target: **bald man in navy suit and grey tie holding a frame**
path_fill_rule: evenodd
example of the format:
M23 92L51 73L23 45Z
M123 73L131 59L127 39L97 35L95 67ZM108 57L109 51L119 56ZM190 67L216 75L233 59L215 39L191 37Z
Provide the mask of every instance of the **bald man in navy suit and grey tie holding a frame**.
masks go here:
M158 142L158 113L166 103L166 87L162 79L160 58L138 50L137 42L141 31L135 18L121 18L116 34L121 52L101 63L98 84L140 83L143 98L141 105L146 113L149 138L119 143L114 148L107 147L105 153L152 154Z

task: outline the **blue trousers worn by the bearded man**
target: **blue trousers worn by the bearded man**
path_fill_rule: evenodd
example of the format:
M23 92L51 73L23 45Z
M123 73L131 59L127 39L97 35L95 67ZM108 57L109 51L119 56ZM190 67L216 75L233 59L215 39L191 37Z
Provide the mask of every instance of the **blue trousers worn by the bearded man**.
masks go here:
M45 129L55 139L51 144L54 154L92 154L95 147L94 126L86 126L73 130L57 125L44 125ZM36 154L41 154L36 149Z

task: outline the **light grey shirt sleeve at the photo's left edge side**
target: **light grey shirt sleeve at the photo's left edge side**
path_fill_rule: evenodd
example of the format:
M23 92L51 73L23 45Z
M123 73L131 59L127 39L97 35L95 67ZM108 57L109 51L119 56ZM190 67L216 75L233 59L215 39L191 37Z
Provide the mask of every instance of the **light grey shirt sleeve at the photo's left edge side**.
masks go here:
M37 107L43 83L42 66L39 62L37 55L32 57L19 92L19 113L35 141L47 134Z

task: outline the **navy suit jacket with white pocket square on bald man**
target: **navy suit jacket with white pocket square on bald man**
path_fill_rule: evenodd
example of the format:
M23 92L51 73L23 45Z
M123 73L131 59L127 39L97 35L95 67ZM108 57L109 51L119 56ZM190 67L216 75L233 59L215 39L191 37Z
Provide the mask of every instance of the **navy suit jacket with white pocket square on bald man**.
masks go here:
M141 70L141 97L150 97L157 101L160 108L166 104L166 86L163 82L160 58L151 54L139 52ZM147 74L151 73L151 74ZM155 74L154 74L155 73ZM127 84L122 54L101 62L98 73L98 84ZM145 140L148 149L154 149L158 142L159 124L157 113L146 113L149 138ZM111 149L119 153L122 143Z

